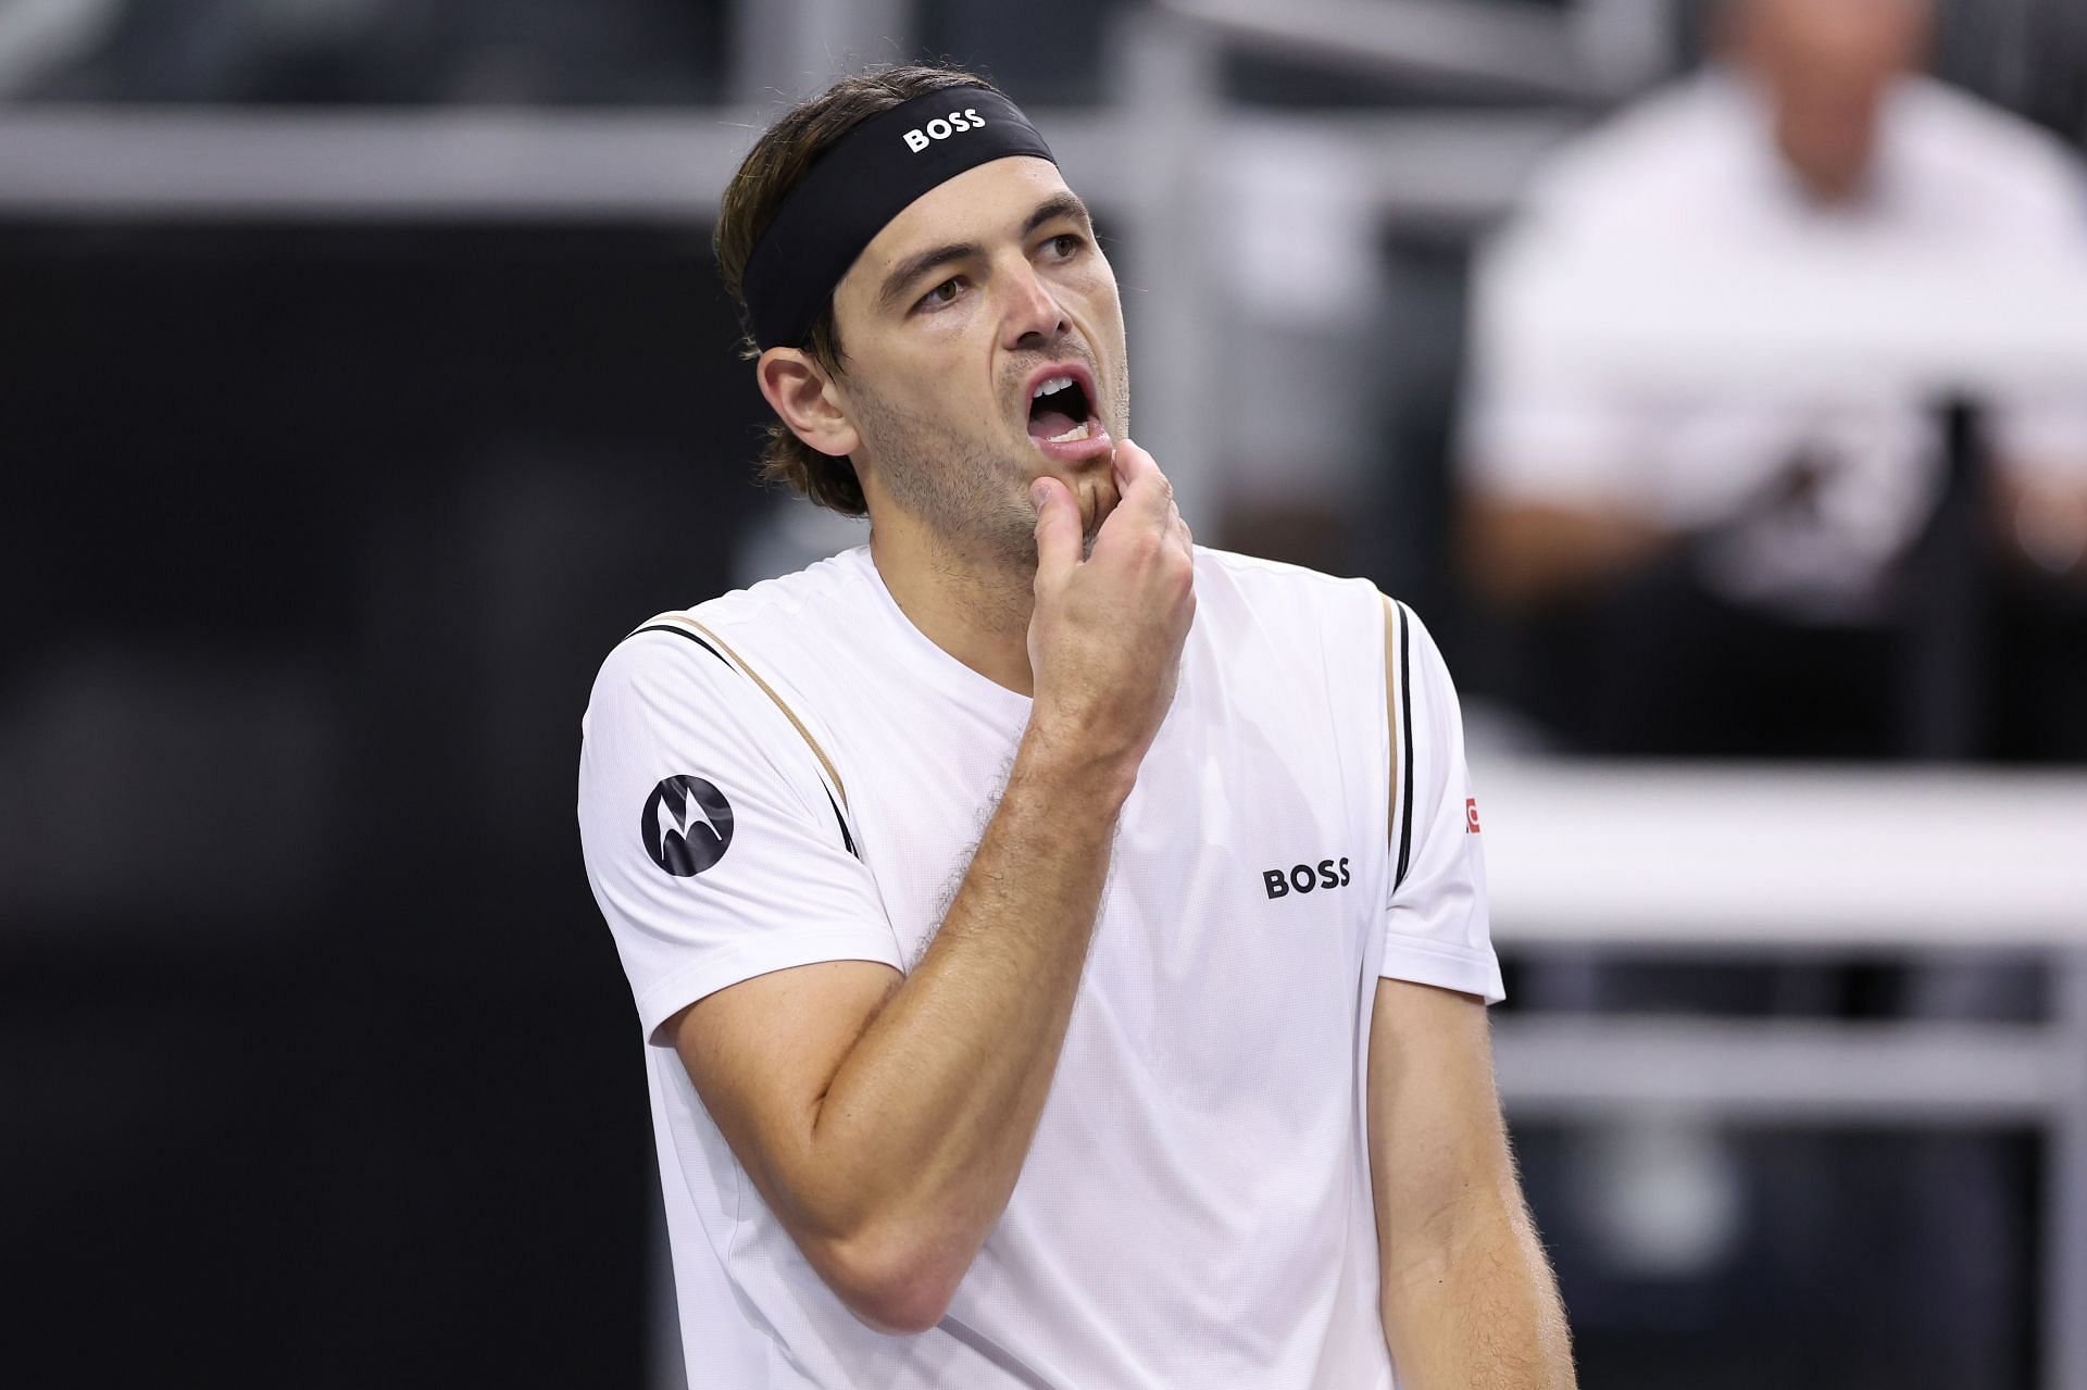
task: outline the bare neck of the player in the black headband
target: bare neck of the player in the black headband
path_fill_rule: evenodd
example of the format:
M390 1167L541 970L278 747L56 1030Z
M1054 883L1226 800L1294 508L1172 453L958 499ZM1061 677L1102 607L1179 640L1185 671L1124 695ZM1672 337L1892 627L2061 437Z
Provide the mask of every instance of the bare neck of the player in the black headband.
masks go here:
M1029 614L1035 564L968 551L910 522L872 518L870 559L899 612L952 657L1031 695Z

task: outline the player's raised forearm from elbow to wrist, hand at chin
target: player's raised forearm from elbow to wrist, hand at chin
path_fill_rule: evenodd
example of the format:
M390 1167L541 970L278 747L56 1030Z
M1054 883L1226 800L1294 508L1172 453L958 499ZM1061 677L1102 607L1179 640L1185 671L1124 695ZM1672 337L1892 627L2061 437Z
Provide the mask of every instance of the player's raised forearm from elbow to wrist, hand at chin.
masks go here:
M927 954L812 1123L835 1227L954 1279L1000 1219L1050 1094L1129 776L1029 737Z

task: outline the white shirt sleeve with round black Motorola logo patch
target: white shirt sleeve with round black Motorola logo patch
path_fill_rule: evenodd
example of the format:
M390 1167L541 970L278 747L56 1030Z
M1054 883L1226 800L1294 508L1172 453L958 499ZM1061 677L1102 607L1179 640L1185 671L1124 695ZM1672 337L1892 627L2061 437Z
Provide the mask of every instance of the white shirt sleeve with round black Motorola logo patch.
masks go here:
M580 720L580 849L659 1025L743 979L820 960L902 968L877 883L810 745L753 680L678 632L641 632Z

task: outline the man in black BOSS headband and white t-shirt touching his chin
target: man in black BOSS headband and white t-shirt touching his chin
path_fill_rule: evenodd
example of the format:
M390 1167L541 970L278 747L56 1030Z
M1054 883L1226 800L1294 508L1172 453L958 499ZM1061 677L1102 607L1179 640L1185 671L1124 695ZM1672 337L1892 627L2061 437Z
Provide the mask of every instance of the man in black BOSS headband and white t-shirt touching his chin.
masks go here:
M582 724L691 1382L1572 1384L1428 632L1192 547L977 77L785 115L718 255L770 472L872 530L634 632Z

